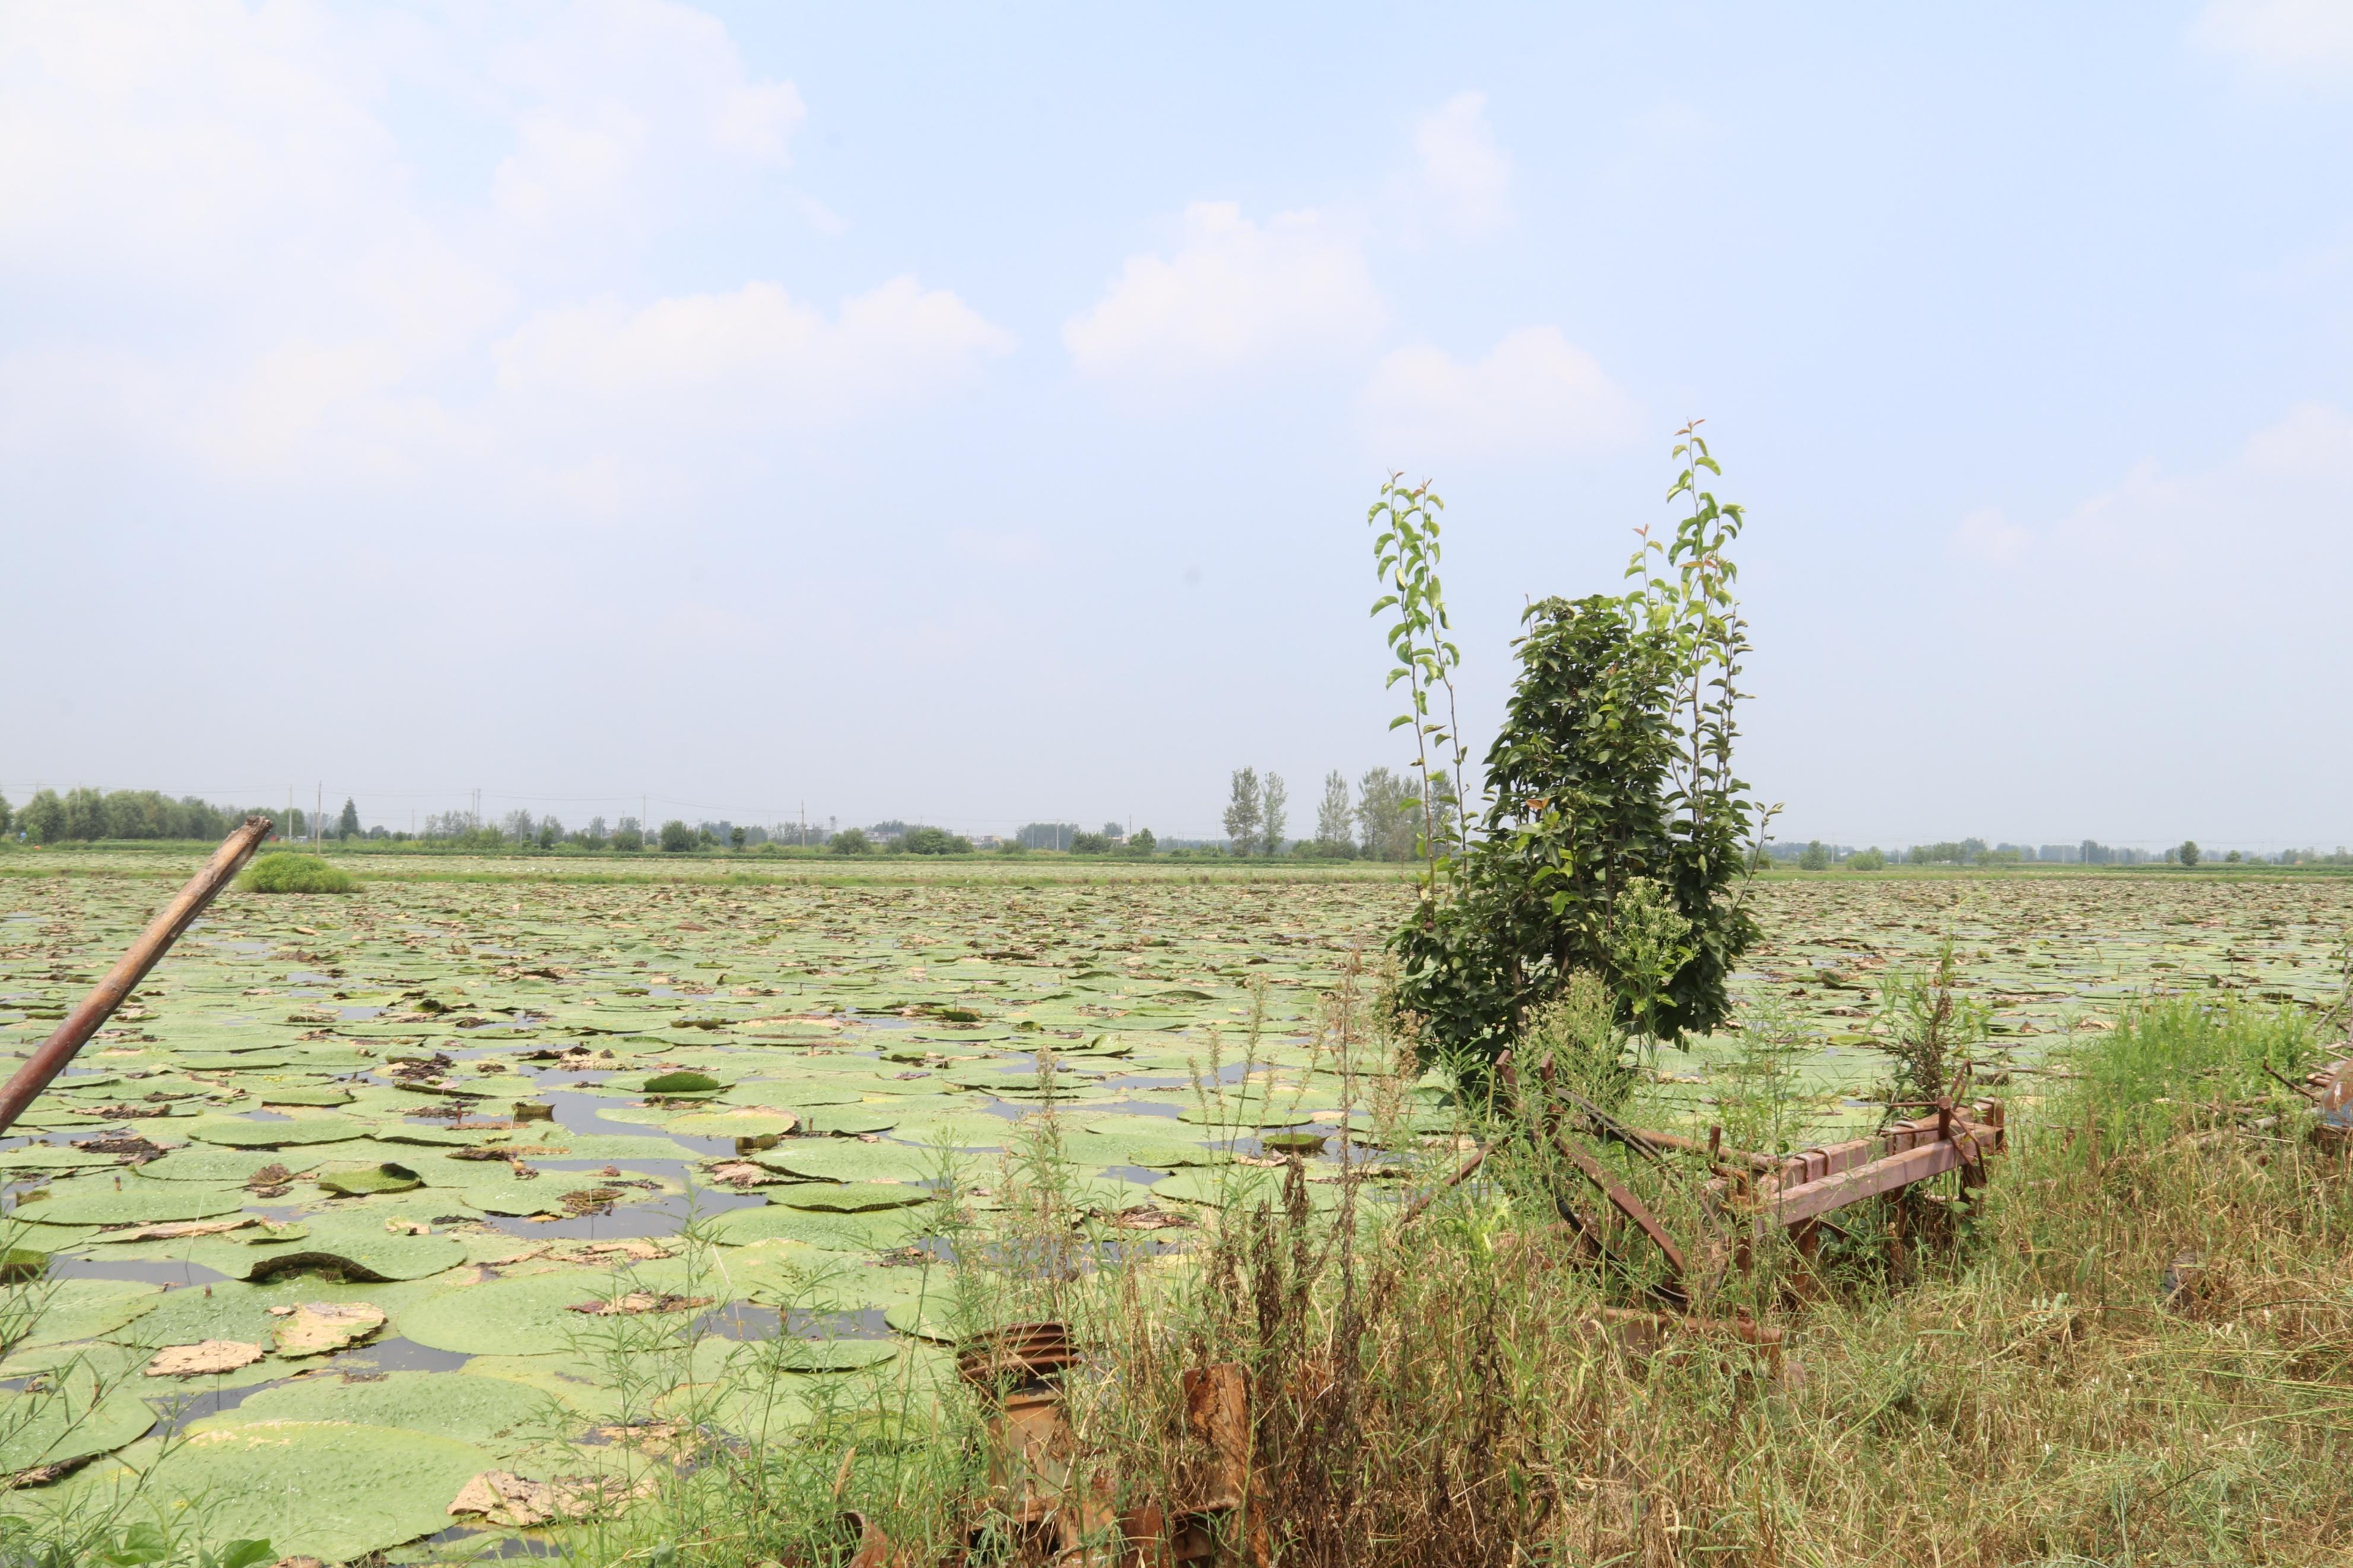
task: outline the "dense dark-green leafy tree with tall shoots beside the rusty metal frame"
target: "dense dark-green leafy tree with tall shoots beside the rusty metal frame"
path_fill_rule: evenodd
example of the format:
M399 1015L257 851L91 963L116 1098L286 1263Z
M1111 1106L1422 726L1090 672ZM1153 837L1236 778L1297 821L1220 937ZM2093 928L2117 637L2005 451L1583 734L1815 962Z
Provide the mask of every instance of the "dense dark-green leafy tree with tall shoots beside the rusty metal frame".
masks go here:
M1457 1070L1480 1072L1579 971L1654 1039L1713 1030L1758 940L1739 884L1769 813L1732 773L1748 635L1729 548L1744 520L1701 489L1720 470L1694 425L1675 458L1668 498L1689 510L1671 541L1645 534L1638 585L1527 609L1480 830L1459 856L1431 856L1393 938L1398 1001Z

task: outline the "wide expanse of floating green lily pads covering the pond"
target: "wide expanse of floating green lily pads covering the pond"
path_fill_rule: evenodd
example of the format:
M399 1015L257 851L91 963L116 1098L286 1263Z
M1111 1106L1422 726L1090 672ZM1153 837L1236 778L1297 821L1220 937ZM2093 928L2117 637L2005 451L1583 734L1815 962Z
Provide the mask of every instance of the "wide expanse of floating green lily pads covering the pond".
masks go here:
M0 877L5 1056L172 886L45 865L68 875ZM633 1399L755 1366L772 1396L720 1420L762 1434L826 1380L936 1378L939 1232L1047 1103L1104 1215L1247 1194L1233 1159L1268 1135L1344 1145L1315 1020L1409 884L986 870L224 896L0 1140L7 1244L52 1260L0 1363L0 1469L33 1481L5 1507L136 1479L280 1554L480 1552L513 1526L449 1505L485 1472L607 1474L612 1368L666 1366L649 1345L685 1347L675 1387ZM1744 1030L1661 1051L1647 1114L1708 1119L1769 1034L1809 1133L1868 1119L1878 987L1946 940L1988 1053L2031 1074L2146 992L2329 1001L2353 924L2353 879L2322 877L1831 875L1755 900ZM1414 1093L1445 1131L1440 1086ZM828 1309L779 1312L807 1281Z

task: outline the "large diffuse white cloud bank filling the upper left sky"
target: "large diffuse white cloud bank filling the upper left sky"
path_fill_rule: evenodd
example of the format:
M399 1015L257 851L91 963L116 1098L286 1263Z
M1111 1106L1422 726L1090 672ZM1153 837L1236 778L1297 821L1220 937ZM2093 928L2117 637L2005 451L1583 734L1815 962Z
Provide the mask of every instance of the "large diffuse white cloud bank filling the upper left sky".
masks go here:
M0 327L14 451L609 498L659 489L687 421L838 428L1009 348L906 277L835 315L772 282L593 303L753 200L842 228L772 183L798 89L680 5L26 5L0 75L0 289L40 301ZM642 440L551 416L595 400Z

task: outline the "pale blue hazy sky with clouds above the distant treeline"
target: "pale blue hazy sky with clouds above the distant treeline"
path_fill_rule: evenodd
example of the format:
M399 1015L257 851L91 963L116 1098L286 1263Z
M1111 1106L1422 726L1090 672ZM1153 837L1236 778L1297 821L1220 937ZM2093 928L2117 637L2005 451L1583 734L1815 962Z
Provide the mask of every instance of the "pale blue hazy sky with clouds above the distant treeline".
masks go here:
M0 0L0 788L1132 818L1701 414L1784 837L2353 842L2353 5Z

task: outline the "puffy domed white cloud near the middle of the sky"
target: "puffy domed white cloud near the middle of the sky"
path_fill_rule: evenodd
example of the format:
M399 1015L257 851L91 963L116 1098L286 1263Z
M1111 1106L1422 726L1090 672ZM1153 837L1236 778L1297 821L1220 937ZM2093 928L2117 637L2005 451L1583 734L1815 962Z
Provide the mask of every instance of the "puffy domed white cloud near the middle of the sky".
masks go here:
M1129 256L1061 341L1089 376L1188 381L1360 346L1386 315L1362 247L1332 219L1287 212L1259 226L1233 202L1195 202L1176 254Z

